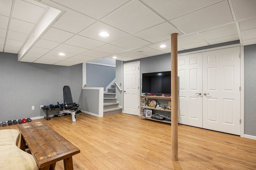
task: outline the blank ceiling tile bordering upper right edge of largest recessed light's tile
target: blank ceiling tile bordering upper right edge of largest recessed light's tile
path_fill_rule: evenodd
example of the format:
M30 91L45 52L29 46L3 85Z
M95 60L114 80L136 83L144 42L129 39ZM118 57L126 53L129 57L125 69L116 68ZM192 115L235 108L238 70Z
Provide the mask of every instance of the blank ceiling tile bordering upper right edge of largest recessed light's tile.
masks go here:
M136 33L142 29L162 23L165 20L140 1L133 0L102 21L122 29L127 33Z

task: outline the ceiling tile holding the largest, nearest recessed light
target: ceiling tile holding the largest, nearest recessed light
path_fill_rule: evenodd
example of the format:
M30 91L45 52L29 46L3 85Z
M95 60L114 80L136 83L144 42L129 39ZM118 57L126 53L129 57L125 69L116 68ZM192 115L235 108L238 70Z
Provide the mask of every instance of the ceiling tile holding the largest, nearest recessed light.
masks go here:
M99 34L101 32L107 32L109 33L108 37L101 37ZM119 29L116 29L114 27L111 27L109 25L106 25L102 22L97 22L93 24L92 26L88 27L79 35L83 35L84 37L89 37L92 39L96 39L98 41L103 41L106 43L109 43L111 41L115 41L117 39L120 39L122 37L125 37L129 35L128 33L125 33L124 31L120 31Z

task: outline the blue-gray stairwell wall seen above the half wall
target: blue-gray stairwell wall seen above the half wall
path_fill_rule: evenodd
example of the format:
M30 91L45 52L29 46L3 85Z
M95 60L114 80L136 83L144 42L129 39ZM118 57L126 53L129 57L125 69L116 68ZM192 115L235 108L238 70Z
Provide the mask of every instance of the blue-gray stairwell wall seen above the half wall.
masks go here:
M104 87L110 84L116 77L116 68L86 63L86 84L87 87Z

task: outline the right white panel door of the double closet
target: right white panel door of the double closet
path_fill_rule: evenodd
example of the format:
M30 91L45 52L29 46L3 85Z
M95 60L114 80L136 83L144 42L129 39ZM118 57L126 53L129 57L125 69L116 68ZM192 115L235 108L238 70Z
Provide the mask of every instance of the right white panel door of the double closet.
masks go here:
M203 128L240 135L240 47L203 53Z

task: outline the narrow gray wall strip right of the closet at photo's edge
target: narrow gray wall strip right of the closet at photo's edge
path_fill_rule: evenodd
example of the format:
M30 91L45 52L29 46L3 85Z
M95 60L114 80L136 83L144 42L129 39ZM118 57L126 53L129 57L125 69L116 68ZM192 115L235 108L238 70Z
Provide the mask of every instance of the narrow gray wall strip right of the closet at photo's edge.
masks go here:
M244 46L244 134L256 136L256 44Z

